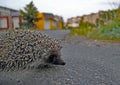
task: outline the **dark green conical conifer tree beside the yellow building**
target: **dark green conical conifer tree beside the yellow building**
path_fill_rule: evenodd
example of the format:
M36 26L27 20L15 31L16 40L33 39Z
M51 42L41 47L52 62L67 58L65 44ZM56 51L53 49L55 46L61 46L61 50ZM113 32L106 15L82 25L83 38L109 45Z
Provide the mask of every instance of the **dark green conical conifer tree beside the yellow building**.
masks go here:
M34 24L35 21L38 21L38 10L34 6L33 1L24 7L24 10L20 10L20 15L23 18L23 22L20 23L21 28L35 28L36 25Z

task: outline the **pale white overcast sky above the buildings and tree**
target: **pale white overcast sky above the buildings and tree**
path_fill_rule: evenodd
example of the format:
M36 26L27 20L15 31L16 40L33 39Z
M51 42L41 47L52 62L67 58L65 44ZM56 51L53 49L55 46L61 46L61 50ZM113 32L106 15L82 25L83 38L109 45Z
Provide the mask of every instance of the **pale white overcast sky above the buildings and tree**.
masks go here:
M120 0L0 0L0 5L19 10L30 1L34 2L40 12L60 15L65 21L70 17L112 9L112 2L120 3Z

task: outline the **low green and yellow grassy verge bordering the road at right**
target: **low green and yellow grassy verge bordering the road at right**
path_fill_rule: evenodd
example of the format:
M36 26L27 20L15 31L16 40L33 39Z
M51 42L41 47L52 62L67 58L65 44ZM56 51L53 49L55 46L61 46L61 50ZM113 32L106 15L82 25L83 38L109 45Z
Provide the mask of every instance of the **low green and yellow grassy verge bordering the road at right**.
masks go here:
M70 29L72 35L86 36L100 40L120 40L120 22L114 21L109 25L100 28L73 28Z

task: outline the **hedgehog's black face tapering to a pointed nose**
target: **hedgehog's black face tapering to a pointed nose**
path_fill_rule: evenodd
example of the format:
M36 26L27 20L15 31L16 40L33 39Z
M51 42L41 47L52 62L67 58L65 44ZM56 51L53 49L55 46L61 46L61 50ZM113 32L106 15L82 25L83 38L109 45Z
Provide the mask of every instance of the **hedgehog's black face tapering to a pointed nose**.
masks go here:
M54 65L65 65L65 62L61 59L60 54L56 51L50 52L46 62Z

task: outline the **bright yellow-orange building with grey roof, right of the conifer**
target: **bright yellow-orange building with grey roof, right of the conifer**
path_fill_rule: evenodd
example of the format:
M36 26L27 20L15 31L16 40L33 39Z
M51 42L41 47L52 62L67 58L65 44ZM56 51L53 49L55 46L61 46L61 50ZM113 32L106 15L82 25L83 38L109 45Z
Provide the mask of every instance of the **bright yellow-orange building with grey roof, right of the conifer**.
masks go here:
M38 30L55 30L62 29L63 19L52 13L39 13L39 21L35 22Z

